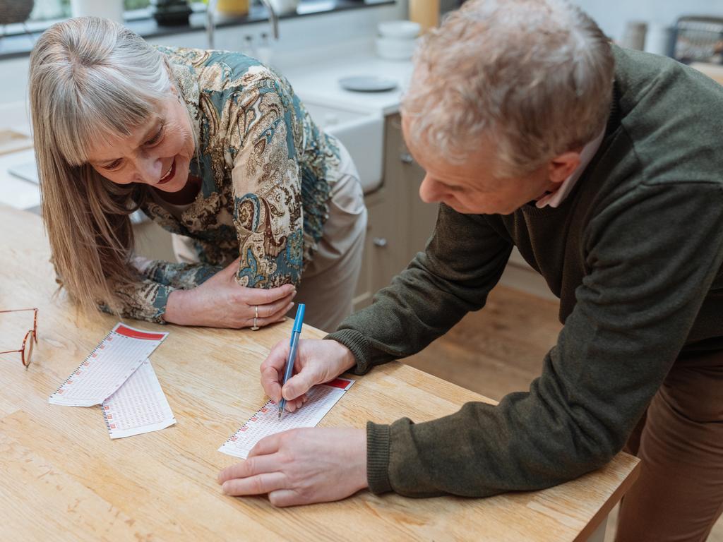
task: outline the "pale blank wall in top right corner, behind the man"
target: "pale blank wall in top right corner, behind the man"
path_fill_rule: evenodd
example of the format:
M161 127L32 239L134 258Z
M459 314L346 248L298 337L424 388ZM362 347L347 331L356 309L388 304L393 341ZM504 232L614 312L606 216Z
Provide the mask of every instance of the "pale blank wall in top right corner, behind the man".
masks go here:
M666 27L680 15L723 17L723 0L573 0L611 38L620 40L625 22L641 20Z

